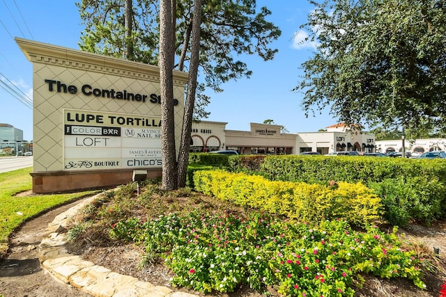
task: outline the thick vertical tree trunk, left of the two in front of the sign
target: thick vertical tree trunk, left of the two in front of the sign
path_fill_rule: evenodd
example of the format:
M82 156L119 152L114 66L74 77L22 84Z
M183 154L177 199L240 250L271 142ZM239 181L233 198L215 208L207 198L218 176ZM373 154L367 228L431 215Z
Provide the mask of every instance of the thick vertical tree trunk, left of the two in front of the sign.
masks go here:
M162 186L175 190L177 166L174 122L174 54L175 54L175 0L160 2L160 93L161 93L161 147Z

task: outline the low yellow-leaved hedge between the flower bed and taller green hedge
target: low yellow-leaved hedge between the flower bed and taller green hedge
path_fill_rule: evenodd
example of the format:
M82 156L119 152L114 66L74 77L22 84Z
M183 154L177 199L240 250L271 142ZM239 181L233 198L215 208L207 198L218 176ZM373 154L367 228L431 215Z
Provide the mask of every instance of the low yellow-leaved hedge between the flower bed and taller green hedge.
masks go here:
M194 172L197 191L301 221L343 218L364 226L380 218L378 198L361 183L332 186L270 181L257 175L224 170Z

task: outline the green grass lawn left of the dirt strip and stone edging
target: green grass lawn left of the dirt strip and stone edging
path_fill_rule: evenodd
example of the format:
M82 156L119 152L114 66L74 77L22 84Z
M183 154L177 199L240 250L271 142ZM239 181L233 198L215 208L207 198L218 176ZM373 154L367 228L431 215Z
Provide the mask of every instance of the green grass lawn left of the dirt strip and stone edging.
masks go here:
M65 202L76 200L95 191L51 195L16 196L32 188L32 167L0 173L0 257L8 250L8 237L29 218Z

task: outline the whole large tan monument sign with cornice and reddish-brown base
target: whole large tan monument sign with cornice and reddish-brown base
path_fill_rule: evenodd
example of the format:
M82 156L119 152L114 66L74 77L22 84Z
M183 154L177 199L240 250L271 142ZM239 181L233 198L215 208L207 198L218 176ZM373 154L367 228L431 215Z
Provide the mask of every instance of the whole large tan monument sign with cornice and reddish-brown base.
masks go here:
M33 192L161 175L158 67L16 38L33 63ZM187 74L174 72L176 147Z

